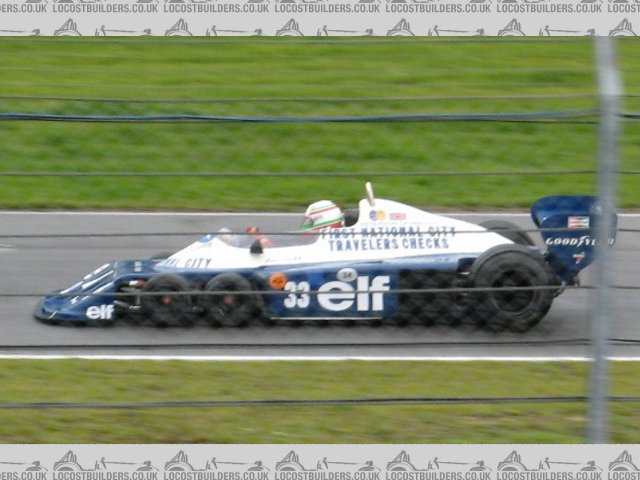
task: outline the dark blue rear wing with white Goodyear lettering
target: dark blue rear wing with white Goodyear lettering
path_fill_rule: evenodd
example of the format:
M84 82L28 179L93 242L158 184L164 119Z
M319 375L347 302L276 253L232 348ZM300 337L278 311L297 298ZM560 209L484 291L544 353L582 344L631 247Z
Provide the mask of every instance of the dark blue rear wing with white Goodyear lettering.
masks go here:
M547 246L547 263L561 280L572 282L595 260L596 225L602 213L598 198L586 195L544 197L531 207L533 223ZM617 227L617 215L612 213L614 233L609 245L615 242Z

